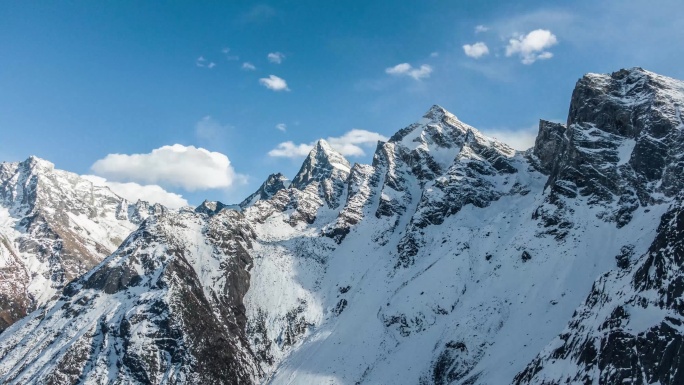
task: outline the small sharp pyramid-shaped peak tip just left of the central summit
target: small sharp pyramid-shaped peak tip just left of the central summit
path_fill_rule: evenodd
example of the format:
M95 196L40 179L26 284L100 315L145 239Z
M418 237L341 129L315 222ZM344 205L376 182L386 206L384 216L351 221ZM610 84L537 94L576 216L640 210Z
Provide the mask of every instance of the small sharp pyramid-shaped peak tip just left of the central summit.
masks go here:
M339 205L339 197L349 177L351 165L328 142L320 139L304 160L302 168L292 180L291 187L304 190L318 183L318 194L331 208Z

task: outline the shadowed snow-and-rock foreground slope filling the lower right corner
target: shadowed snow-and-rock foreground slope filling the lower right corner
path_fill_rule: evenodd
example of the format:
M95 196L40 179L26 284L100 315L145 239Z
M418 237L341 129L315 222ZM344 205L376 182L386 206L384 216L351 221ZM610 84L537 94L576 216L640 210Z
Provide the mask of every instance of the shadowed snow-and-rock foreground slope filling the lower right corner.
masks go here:
M515 384L684 383L684 194L653 243L597 280L556 338ZM620 257L633 250L625 248Z

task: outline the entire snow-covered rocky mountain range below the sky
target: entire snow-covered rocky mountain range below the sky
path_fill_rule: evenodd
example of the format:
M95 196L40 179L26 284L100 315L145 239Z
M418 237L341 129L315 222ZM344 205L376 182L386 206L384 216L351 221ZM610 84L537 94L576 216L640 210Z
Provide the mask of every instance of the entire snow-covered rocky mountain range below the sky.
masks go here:
M2 384L684 384L684 82L587 74L521 152L433 106L239 205L0 165Z

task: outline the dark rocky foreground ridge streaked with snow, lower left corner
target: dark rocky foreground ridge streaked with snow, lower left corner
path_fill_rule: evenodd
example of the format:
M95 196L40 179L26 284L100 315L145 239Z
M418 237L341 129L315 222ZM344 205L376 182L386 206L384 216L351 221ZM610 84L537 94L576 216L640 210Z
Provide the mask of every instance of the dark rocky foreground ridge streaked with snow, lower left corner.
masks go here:
M260 372L242 304L253 238L235 211L150 218L7 331L0 381L253 383Z

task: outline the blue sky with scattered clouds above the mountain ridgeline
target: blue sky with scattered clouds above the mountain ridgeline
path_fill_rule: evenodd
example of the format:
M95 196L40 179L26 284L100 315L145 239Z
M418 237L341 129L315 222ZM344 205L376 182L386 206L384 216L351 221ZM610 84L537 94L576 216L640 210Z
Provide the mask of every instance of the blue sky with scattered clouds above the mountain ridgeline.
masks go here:
M676 1L0 1L0 160L239 202L440 104L524 147L587 72L684 78ZM167 192L176 195L169 195ZM178 196L182 195L182 199Z

